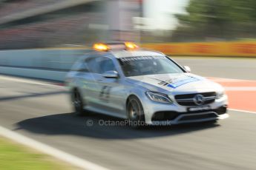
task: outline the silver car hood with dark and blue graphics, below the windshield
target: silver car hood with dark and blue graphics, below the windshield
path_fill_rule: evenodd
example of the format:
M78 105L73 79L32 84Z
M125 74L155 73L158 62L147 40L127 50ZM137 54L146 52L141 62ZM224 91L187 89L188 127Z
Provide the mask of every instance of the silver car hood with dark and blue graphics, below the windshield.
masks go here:
M128 81L148 90L170 95L184 92L217 92L223 90L220 84L191 73L140 75L129 77Z

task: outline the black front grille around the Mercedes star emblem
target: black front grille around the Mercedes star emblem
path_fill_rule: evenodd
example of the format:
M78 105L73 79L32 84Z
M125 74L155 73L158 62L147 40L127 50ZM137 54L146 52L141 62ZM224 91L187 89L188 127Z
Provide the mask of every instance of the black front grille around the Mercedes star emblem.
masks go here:
M203 95L203 105L213 103L216 98L216 92L201 92L201 93L192 93L185 95L175 95L175 100L182 106L198 106L197 103L194 102L194 97L196 95Z

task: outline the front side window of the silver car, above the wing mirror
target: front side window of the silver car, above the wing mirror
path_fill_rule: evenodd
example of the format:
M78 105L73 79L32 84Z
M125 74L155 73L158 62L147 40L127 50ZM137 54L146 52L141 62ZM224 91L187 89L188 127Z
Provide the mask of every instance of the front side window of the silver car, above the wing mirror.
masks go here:
M99 63L99 69L101 74L108 71L116 71L116 67L111 58L108 58L108 57L99 58L98 63Z

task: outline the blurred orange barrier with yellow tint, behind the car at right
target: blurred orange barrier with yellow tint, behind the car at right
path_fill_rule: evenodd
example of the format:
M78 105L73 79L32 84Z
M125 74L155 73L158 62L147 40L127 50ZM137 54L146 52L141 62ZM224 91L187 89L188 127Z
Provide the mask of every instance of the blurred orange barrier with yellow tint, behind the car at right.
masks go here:
M256 58L256 41L142 44L142 47L157 50L167 55Z

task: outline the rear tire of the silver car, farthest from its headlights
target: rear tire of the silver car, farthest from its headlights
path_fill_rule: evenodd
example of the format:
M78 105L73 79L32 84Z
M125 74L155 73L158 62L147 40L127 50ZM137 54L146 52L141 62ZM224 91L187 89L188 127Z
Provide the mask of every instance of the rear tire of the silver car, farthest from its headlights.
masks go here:
M71 99L73 103L74 115L76 116L85 115L84 101L82 100L82 96L80 95L80 92L77 89L73 91L71 95Z

